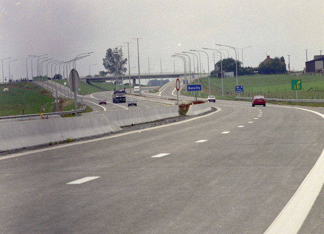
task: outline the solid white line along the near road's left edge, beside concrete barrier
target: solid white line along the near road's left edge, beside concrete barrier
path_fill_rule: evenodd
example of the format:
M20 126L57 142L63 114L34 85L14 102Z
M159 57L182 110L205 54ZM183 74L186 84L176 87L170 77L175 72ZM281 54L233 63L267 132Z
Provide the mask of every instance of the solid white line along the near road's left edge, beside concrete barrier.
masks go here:
M176 124L181 124L181 123L189 122L189 121L192 121L192 120L195 120L195 119L198 119L198 118L208 117L208 116L214 115L217 112L222 111L221 108L219 108L219 107L216 107L216 108L217 108L217 111L209 113L209 114L204 115L204 116L193 117L193 118L185 119L185 120L182 120L182 121L179 121L179 122L174 122L174 123L162 124L162 125L151 127L151 128L144 128L144 129L129 131L129 132L125 132L125 133L118 133L118 134L114 134L114 135L107 136L107 137L100 137L100 138L91 139L91 140L81 140L81 141L78 141L78 142L53 146L53 147L40 149L40 150L32 150L32 151L12 154L12 155L9 155L9 156L2 156L2 157L0 156L0 160L13 158L13 157L24 156L24 155L30 155L30 154L34 154L34 153L45 152L45 151L49 151L49 150L65 148L65 147L74 146L74 145L80 145L80 144L84 144L84 143L95 142L95 141L99 141L99 140L106 140L106 139L115 138L115 137L122 137L122 136L126 136L126 135L129 135L129 134L140 133L140 132L144 132L144 131L150 131L152 129L158 129L158 128L168 127L168 126L172 126L172 125L176 125Z

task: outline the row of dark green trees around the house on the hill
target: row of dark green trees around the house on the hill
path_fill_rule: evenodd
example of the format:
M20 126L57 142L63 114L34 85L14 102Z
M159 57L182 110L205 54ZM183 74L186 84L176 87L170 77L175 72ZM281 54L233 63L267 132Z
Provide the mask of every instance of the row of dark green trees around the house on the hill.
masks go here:
M220 68L217 70L213 70L211 74L216 74L221 72L221 61L218 61L216 65ZM223 72L234 72L236 75L236 62L233 58L223 59ZM284 57L275 57L274 59L270 59L267 62L261 62L258 67L243 67L242 62L237 61L237 69L238 75L252 75L256 72L259 74L278 74L278 73L286 73L286 63L284 61Z

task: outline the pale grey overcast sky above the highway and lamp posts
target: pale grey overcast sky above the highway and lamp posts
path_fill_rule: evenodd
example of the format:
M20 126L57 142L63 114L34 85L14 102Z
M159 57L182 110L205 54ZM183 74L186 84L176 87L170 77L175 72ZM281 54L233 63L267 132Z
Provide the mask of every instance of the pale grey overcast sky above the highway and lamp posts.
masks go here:
M77 62L80 76L98 74L108 48L129 44L131 73L173 72L171 55L207 48L222 48L235 59L230 45L243 49L244 66L257 67L266 55L282 57L290 69L302 70L307 58L324 50L324 0L0 0L0 59L4 77L26 77L28 55L48 54L48 59L68 61L93 52ZM212 52L209 55L212 70ZM324 51L322 51L324 55ZM201 55L207 71L207 56ZM242 61L242 50L239 49ZM34 75L36 71L34 59ZM46 62L43 62L44 73ZM49 65L49 68L51 67ZM31 77L31 58L28 59ZM1 66L1 63L0 63ZM35 66L35 67L34 67ZM61 66L62 67L62 66ZM57 66L58 68L58 66ZM127 65L128 68L128 65ZM50 70L50 69L49 69ZM175 70L183 70L175 59ZM58 73L58 72L57 72ZM128 74L128 72L127 72ZM49 75L50 76L50 75ZM2 74L0 74L2 82Z

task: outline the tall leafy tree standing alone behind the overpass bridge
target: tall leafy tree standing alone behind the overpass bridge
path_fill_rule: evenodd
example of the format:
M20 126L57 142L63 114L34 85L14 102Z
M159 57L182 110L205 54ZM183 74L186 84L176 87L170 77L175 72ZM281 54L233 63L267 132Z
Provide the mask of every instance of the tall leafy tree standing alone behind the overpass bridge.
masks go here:
M114 53L114 51L117 52ZM118 49L117 47L114 49L114 51L109 48L106 51L106 55L105 57L102 59L103 63L102 65L104 66L105 69L107 69L107 74L116 74L116 66L117 66L117 71L119 75L124 75L125 72L127 71L127 68L124 67L124 65L127 62L127 59L122 59L121 61L121 57L122 57L122 50ZM118 64L116 64L116 62Z

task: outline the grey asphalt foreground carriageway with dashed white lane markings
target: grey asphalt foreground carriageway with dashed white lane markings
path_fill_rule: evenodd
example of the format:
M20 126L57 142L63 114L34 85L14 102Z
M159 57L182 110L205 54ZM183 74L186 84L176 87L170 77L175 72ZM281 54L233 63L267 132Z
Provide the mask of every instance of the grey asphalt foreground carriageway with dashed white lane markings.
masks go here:
M211 105L174 124L0 156L0 233L322 233L323 108Z

